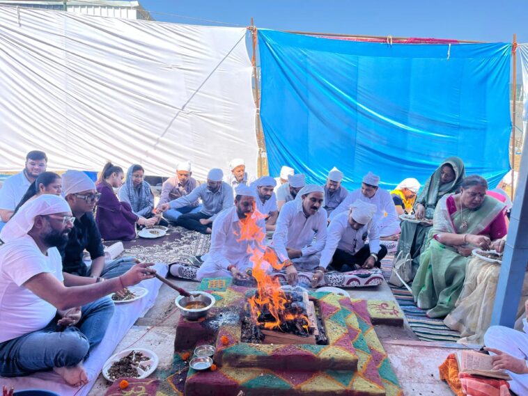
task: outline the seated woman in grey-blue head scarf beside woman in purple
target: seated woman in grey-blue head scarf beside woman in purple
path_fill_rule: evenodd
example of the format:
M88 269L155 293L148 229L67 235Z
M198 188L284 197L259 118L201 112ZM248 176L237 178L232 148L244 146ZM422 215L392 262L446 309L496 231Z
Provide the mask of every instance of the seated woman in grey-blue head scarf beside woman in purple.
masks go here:
M150 190L150 184L143 179L144 177L143 166L137 164L130 166L127 171L127 180L118 191L119 200L129 203L136 216L155 219L155 224L169 225L162 219L161 214L155 215L153 213L154 194Z

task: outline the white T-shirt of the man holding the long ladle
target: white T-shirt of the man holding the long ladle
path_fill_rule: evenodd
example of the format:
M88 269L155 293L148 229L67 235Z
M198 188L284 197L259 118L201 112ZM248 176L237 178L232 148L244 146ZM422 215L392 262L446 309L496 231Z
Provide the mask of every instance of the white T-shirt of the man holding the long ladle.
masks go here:
M57 309L52 304L24 287L26 280L43 272L63 282L56 248L43 255L29 235L0 248L0 342L40 330L55 317Z

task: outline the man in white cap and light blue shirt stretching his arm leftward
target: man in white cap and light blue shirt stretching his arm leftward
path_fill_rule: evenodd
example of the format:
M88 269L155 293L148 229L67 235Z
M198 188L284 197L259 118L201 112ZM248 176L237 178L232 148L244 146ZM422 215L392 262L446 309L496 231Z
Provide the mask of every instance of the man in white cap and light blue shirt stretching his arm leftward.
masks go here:
M222 182L222 177L224 177L222 169L211 169L207 175L207 184L201 184L186 196L158 205L157 210L166 212L169 209L179 209L191 205L200 198L202 201L200 212L182 214L178 217L176 225L202 234L210 234L211 224L217 214L233 206L233 189L226 182Z

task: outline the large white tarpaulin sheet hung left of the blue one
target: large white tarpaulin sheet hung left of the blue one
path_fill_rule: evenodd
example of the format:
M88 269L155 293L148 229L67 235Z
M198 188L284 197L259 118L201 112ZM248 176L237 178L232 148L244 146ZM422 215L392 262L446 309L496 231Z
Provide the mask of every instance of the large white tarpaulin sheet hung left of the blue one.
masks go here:
M44 150L49 170L108 159L194 175L258 145L244 28L0 7L0 171Z

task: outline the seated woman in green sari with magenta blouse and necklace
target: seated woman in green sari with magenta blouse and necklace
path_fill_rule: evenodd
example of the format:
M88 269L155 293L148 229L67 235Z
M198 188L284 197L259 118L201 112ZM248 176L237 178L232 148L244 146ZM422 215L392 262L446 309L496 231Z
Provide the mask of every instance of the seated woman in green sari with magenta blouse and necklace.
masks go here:
M444 317L462 291L468 256L473 248L502 251L506 235L504 204L486 195L483 177L466 177L461 192L447 194L435 209L433 232L420 256L412 295L428 317Z

